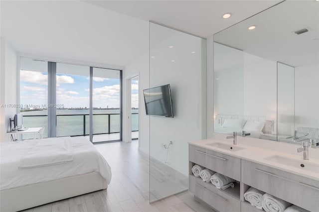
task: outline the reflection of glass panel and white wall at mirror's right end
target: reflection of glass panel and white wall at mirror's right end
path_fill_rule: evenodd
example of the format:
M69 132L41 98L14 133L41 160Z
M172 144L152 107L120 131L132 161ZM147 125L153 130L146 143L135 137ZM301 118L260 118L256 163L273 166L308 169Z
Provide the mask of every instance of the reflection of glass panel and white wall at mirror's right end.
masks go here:
M319 140L319 65L278 63L278 140L313 147Z

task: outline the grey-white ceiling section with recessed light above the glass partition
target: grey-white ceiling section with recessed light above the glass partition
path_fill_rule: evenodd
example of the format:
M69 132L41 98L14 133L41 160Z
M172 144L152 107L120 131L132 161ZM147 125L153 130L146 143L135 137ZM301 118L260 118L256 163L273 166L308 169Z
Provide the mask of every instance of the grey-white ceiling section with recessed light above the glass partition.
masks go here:
M84 0L141 20L208 37L281 0ZM231 12L229 19L222 15Z

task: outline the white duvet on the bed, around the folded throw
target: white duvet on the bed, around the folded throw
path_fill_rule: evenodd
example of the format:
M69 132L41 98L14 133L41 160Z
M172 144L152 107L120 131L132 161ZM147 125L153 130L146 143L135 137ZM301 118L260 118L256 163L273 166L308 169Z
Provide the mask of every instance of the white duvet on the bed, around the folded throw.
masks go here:
M54 142L61 138L44 138ZM73 160L67 163L19 169L20 159L41 140L0 143L0 190L47 182L90 172L99 172L111 182L111 167L94 145L84 137L70 137Z

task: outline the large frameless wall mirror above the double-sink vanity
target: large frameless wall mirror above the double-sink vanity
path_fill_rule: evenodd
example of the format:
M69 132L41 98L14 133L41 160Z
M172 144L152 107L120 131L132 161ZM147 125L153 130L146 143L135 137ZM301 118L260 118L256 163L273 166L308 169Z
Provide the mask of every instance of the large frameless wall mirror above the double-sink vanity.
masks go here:
M214 132L233 131L319 142L318 1L286 0L214 34Z

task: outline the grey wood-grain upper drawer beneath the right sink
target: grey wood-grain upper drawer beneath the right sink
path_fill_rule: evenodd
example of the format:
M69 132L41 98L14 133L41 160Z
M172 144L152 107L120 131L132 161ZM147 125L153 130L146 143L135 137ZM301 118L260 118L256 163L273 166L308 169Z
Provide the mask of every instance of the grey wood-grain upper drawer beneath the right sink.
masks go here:
M316 212L319 182L279 169L242 160L242 182L277 198Z

